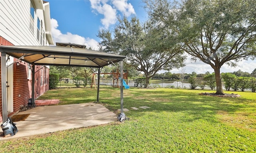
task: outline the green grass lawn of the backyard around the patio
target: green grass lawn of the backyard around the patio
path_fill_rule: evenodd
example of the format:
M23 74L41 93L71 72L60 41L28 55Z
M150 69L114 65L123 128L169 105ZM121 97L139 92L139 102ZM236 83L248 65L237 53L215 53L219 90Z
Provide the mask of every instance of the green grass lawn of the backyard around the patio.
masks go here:
M124 108L130 120L122 123L70 129L45 135L0 141L2 152L256 152L256 93L240 98L201 96L209 90L124 90ZM60 104L94 102L94 88L49 90L40 99ZM100 102L115 112L120 89L100 88ZM148 109L132 110L148 106Z

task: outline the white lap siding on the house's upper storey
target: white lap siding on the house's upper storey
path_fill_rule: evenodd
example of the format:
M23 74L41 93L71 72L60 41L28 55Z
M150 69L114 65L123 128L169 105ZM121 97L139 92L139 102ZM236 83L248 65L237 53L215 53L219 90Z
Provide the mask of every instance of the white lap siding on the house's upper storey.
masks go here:
M36 8L35 12L32 33L29 28L30 0L0 0L0 36L14 45L40 45L36 39L37 18L45 23L44 14Z

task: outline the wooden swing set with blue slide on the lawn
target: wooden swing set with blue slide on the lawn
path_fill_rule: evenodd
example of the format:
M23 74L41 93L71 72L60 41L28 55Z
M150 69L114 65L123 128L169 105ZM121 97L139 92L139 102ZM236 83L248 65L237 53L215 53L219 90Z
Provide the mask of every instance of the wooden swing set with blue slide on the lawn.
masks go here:
M92 85L94 84L94 88L96 89L95 75L98 75L98 73L93 73L92 74L91 88L92 88ZM118 69L116 70L116 72L114 72L114 70L112 70L112 73L100 73L100 75L113 75L112 87L120 88L118 80L120 80L121 78L120 78L120 73L119 73ZM124 80L124 79L126 79L126 80ZM124 86L125 89L130 88L130 86L128 86L128 73L123 73L123 86Z

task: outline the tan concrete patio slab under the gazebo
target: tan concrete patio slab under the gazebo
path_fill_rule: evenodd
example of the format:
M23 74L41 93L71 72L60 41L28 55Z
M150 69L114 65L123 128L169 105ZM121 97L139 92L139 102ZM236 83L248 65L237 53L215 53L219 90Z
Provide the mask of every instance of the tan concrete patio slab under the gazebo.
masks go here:
M14 122L18 133L0 140L28 137L71 128L108 124L117 121L117 115L97 103L39 106L19 112L30 114L25 121ZM2 134L2 129L0 134Z

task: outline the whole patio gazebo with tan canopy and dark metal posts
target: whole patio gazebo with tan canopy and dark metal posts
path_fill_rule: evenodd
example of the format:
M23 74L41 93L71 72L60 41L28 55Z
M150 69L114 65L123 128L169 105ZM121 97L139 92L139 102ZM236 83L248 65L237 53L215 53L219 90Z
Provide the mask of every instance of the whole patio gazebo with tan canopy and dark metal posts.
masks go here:
M7 120L7 96L6 96L6 55L25 61L32 65L32 104L34 104L34 68L35 65L56 65L70 67L95 67L100 68L112 63L120 62L120 71L123 71L125 56L104 53L86 49L84 45L72 43L56 43L58 46L0 46L1 52L1 80L2 80L2 118ZM15 61L14 61L15 63ZM120 98L121 113L123 113L123 75L120 74ZM99 101L99 81L97 102Z

